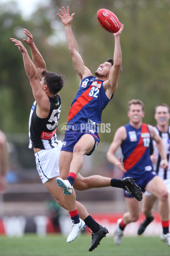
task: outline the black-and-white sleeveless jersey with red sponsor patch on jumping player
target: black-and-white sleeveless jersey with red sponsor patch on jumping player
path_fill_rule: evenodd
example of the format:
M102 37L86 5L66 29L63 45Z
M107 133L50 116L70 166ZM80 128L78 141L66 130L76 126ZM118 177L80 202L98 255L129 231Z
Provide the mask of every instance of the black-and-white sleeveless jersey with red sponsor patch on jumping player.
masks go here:
M36 114L37 103L33 103L29 117L29 148L51 149L57 146L57 124L61 112L61 98L57 94L50 100L48 117L39 118Z

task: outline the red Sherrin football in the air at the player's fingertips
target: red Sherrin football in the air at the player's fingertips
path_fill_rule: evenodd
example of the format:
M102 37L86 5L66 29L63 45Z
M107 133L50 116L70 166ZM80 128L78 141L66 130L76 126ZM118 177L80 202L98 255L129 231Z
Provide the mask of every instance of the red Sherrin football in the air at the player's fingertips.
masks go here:
M107 9L100 9L97 12L97 18L102 28L104 28L108 32L116 33L119 31L120 29L119 20L116 17L116 15L111 11Z

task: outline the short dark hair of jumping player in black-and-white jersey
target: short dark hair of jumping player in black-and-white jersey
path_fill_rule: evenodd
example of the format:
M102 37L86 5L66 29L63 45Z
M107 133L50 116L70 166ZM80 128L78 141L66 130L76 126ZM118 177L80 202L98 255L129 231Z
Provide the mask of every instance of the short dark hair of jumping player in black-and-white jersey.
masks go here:
M49 92L52 94L57 94L64 85L63 76L61 74L56 74L50 71L42 71L41 73L44 77L44 84L48 86Z

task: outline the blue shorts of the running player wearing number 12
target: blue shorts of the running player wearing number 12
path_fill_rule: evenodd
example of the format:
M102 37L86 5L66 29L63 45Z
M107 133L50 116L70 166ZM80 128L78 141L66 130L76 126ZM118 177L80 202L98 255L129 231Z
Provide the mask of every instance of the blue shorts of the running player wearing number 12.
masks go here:
M126 173L125 173L126 174ZM131 176L124 176L123 177L131 177ZM143 175L142 177L139 178L133 178L133 180L135 180L136 185L138 185L142 191L145 191L145 187L148 184L148 182L153 179L155 176L157 176L158 174L155 171L150 171L150 172L146 172L145 175ZM128 193L128 191L124 190L124 196L125 197L133 197L130 193Z

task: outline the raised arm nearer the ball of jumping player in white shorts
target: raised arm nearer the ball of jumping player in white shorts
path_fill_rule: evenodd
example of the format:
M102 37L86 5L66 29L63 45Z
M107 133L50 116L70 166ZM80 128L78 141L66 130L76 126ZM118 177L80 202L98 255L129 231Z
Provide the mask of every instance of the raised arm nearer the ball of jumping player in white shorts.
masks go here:
M24 42L26 42L30 49L31 49L31 55L33 58L33 63L38 71L39 77L42 79L42 71L46 70L46 64L44 59L42 58L39 50L35 46L33 42L33 35L25 28L23 28L25 35L28 37L28 39L24 39Z

